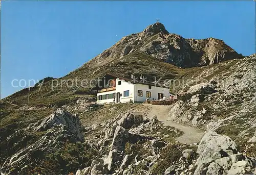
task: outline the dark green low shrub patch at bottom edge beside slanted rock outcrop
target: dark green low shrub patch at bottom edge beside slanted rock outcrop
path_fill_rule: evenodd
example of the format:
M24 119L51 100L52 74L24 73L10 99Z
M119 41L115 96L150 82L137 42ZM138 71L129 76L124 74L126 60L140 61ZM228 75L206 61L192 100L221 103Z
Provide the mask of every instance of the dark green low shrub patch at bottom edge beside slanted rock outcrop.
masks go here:
M97 151L85 143L66 143L59 151L46 154L40 164L30 165L26 174L69 174L90 166L96 155Z

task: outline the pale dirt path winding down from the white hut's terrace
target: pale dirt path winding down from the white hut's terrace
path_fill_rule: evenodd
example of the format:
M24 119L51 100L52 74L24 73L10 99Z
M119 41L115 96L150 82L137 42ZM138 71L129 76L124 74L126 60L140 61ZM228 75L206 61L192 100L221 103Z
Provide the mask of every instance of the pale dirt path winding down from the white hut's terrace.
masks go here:
M178 140L181 143L192 144L197 143L201 140L204 135L204 132L198 130L193 127L184 126L182 124L175 123L173 121L167 121L167 115L170 110L170 106L162 106L162 105L151 105L151 104L143 104L145 106L151 107L151 111L148 113L149 117L157 116L159 121L162 121L164 124L175 127L180 131L183 131L184 134L178 137Z

